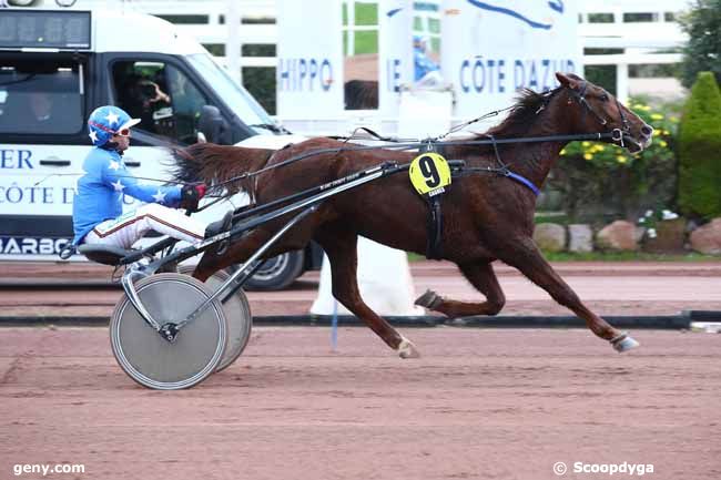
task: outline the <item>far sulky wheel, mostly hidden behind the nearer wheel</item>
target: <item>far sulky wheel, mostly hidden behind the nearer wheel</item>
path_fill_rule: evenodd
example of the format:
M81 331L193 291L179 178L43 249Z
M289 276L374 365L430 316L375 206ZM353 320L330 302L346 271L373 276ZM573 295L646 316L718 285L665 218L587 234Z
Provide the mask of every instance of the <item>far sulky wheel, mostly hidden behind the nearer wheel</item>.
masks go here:
M180 272L191 275L193 269L194 267L192 266L182 266ZM229 277L230 274L227 272L219 270L205 280L205 285L207 285L211 290L215 292L225 283L225 280L229 279ZM222 296L220 298L222 298ZM248 305L247 297L242 289L237 290L235 295L223 304L223 313L225 314L225 320L227 321L227 345L216 371L221 371L229 367L237 359L237 357L241 356L247 345L247 340L251 338L251 329L253 328L251 306Z

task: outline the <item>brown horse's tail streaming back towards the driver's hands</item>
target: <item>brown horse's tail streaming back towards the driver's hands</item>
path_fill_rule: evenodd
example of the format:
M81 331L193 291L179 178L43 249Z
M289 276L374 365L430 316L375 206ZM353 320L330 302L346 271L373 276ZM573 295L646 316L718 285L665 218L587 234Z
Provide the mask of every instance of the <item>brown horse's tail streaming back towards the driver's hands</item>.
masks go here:
M262 168L273 151L196 143L185 149L175 149L172 153L175 159L173 175L177 182L223 184L229 191L237 191L244 187L242 182L229 181Z

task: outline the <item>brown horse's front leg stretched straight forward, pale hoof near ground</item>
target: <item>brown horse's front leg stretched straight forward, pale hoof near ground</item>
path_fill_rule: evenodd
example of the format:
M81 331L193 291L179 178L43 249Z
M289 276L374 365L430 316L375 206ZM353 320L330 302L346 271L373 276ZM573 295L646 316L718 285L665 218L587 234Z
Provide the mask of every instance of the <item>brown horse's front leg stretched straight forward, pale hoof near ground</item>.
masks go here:
M592 333L610 341L617 351L639 346L638 341L610 326L581 303L571 287L546 262L532 238L525 237L520 242L505 245L501 259L518 268L528 279L548 292L556 302L582 318Z

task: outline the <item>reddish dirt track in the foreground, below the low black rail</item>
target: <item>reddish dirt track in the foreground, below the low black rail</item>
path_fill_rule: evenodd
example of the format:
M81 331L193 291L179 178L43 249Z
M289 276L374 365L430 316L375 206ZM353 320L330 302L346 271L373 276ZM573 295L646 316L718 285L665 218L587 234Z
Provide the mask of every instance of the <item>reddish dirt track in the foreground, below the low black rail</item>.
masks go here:
M721 337L407 329L400 360L365 328L258 328L199 387L138 387L104 328L0 329L0 478L83 463L77 479L555 479L552 466L652 463L721 478ZM17 478L40 478L30 474ZM617 473L562 478L618 479Z

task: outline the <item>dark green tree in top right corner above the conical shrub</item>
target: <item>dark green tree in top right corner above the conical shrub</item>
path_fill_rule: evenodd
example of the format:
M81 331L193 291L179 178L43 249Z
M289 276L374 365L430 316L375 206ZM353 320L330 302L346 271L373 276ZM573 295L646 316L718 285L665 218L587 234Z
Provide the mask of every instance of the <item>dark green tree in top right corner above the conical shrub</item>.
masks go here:
M721 83L721 0L695 0L679 22L689 34L683 49L683 86L691 88L702 71L713 72Z

